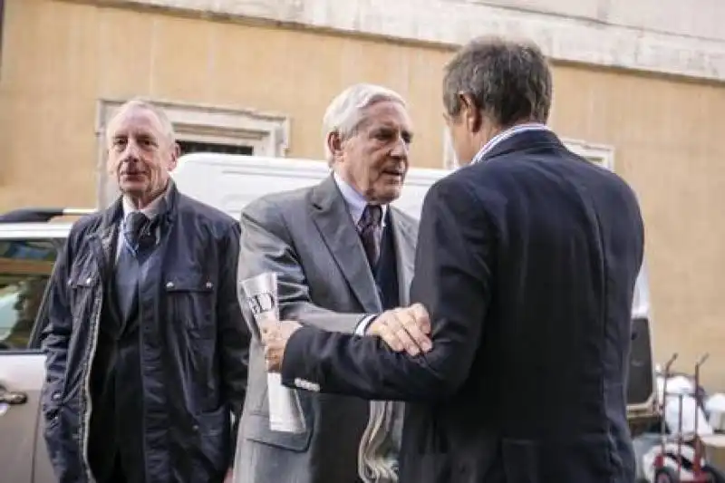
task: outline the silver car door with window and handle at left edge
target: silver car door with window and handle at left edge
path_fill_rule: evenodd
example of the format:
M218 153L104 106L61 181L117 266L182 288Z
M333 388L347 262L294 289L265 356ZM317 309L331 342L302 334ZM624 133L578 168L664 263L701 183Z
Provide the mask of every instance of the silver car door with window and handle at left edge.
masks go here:
M44 357L32 334L58 246L57 239L43 238L42 234L17 237L17 231L0 230L2 481L53 481L40 418Z

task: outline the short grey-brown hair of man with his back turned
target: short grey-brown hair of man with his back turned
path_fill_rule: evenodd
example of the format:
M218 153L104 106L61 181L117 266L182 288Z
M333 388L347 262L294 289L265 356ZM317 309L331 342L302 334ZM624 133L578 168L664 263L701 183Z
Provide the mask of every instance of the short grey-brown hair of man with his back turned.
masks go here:
M449 116L468 94L484 115L501 127L518 121L546 123L552 80L546 57L535 43L480 37L446 65L443 104Z

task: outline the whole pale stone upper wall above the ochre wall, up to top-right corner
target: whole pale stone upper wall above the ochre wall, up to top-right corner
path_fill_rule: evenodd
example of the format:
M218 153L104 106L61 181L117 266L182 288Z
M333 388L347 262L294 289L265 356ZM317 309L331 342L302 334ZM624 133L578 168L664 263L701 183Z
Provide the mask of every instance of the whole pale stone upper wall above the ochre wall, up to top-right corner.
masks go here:
M725 80L720 0L85 0L427 43L521 35L558 60Z

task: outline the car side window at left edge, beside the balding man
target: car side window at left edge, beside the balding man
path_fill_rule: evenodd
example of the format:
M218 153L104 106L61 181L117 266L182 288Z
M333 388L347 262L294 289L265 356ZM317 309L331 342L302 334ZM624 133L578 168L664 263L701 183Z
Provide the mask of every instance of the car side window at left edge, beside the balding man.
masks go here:
M50 239L0 239L0 352L27 348L56 256Z

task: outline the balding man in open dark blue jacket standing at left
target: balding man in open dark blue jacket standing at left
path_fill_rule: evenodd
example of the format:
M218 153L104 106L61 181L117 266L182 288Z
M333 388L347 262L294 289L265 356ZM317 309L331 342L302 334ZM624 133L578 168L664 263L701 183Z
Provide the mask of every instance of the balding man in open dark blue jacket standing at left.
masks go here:
M221 483L247 384L239 226L180 194L166 115L107 131L122 196L74 224L43 332L45 440L60 483Z

